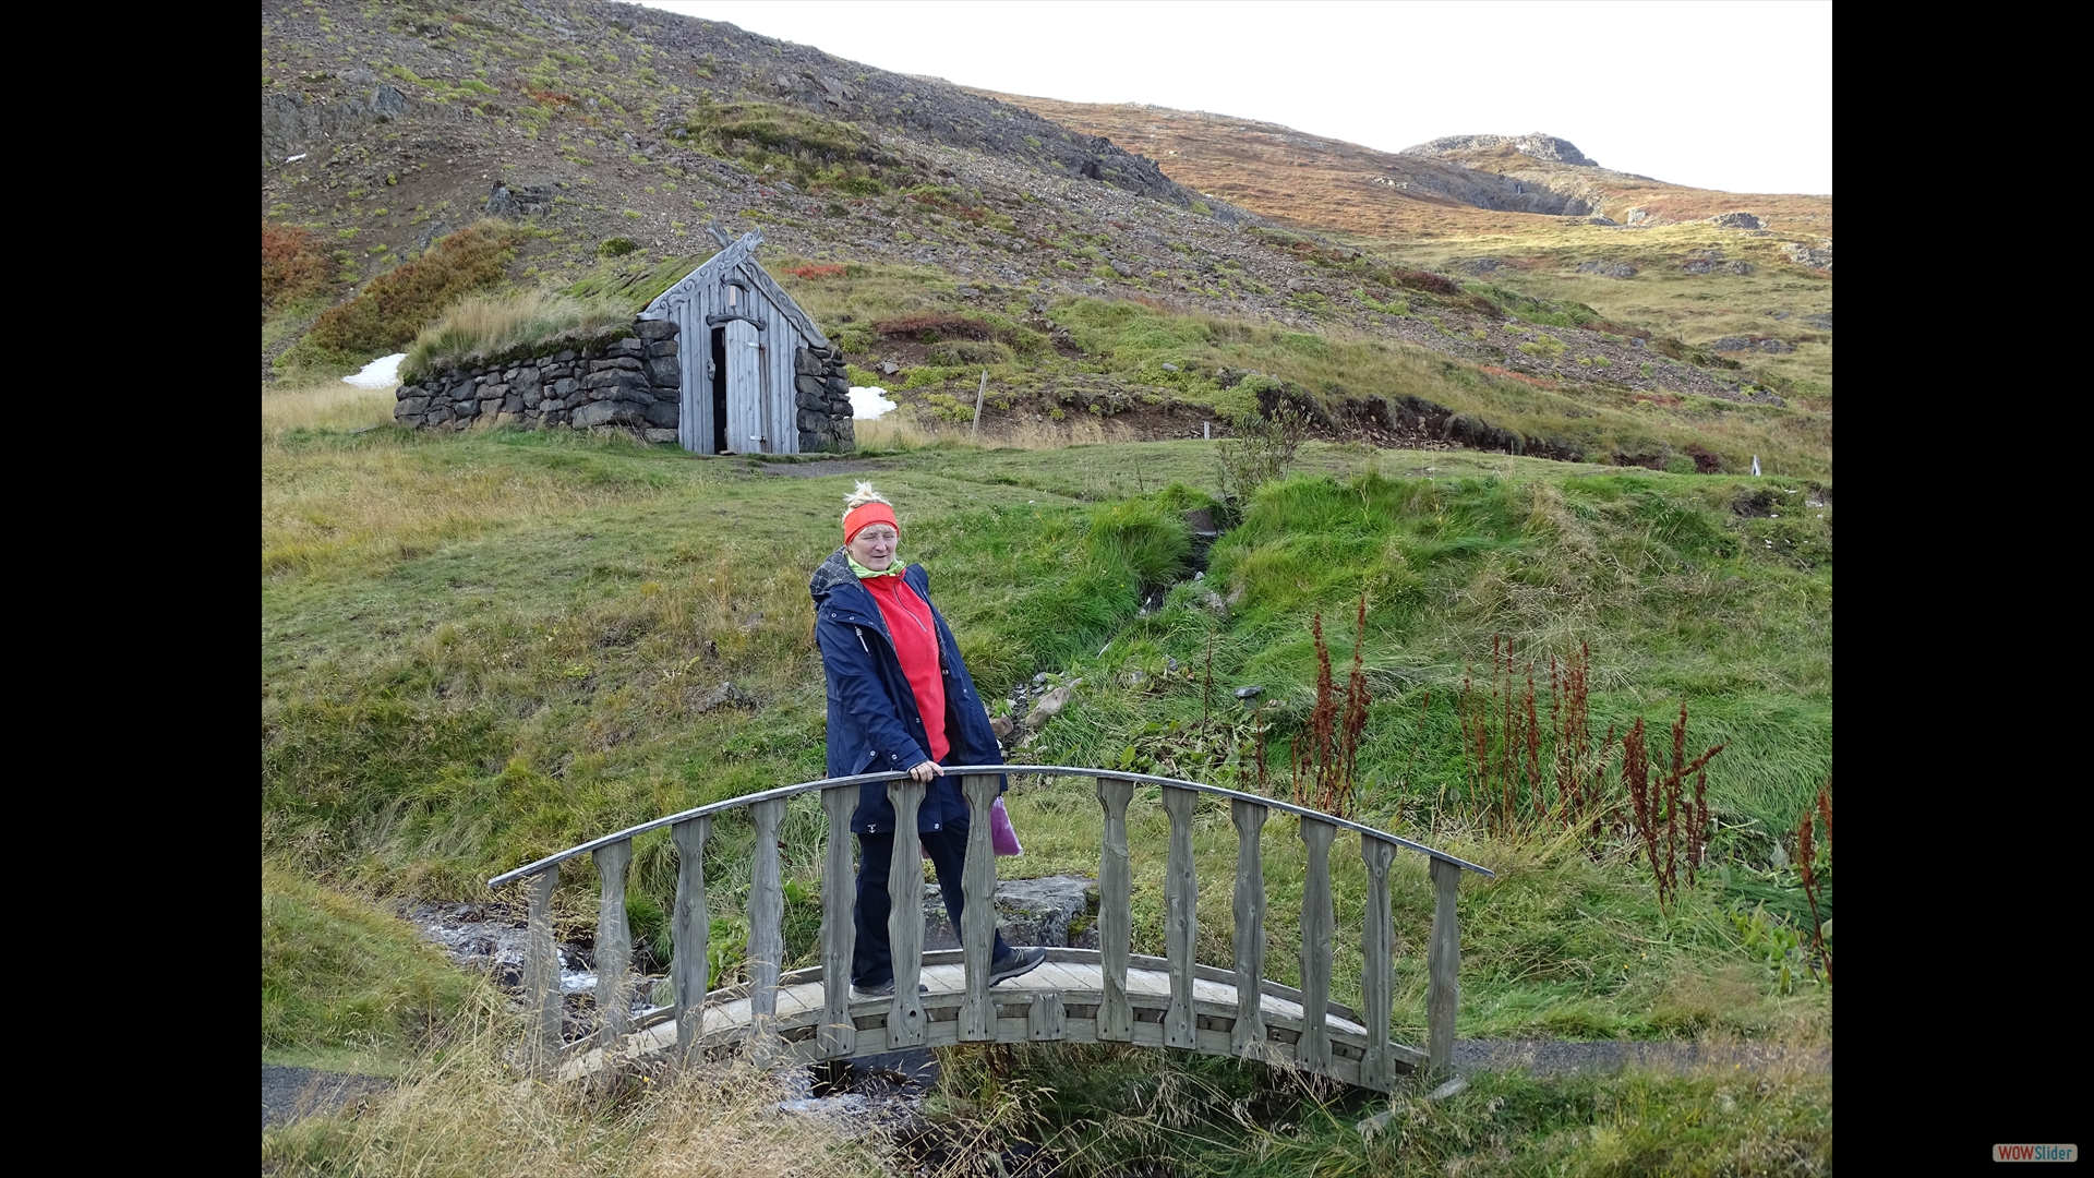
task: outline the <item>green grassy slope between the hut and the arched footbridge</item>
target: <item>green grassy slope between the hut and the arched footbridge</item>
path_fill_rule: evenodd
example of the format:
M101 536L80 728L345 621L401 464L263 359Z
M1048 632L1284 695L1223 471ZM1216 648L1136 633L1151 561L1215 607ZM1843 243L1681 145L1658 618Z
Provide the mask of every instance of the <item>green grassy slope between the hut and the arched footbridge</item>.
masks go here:
M1470 461L1495 474L1449 480L1464 467L1441 455L1313 446L1309 465L1330 474L1265 488L1202 581L1179 581L1183 545L1168 543L1177 511L1212 488L1200 442L928 449L877 459L873 478L903 503L905 555L932 570L984 692L1039 671L1087 679L1034 738L1041 757L1118 763L1135 744L1156 767L1191 771L1171 761L1183 750L1141 734L1261 683L1284 761L1315 677L1309 616L1328 614L1334 658L1349 658L1340 616L1365 591L1378 700L1361 755L1367 813L1483 847L1460 805L1462 679L1493 635L1537 656L1583 641L1596 732L1635 715L1661 723L1688 702L1698 744L1732 742L1711 765L1711 797L1723 845L1763 864L1828 769L1830 509L1803 507L1828 493L1774 482L1778 507L1795 507L1769 518L1755 507L1767 480ZM804 576L833 547L859 474L785 470L532 434L274 436L264 849L369 887L463 897L593 832L819 778ZM1143 614L1143 597L1173 583ZM1095 807L1076 792L1018 799L1037 832L1022 870L1095 868ZM1288 861L1296 851L1273 838ZM729 893L745 870L733 841L718 876ZM789 870L810 878L817 861L800 845ZM1537 870L1579 880L1581 861L1543 855ZM639 887L666 899L670 876L666 843L643 845ZM1589 887L1627 887L1602 878ZM1275 935L1277 977L1290 954ZM1499 1015L1478 998L1466 1017L1495 1029L1554 1017L1520 998L1531 977L1508 985ZM1600 1004L1596 1029L1650 1025L1648 1008L1617 1004L1617 983L1575 989Z

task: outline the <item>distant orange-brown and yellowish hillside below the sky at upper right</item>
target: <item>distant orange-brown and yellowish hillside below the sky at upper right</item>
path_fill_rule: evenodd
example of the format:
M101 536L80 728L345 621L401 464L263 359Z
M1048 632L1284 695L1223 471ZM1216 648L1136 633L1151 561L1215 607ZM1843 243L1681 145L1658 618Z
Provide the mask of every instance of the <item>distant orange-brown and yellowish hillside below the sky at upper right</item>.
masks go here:
M995 96L1141 151L1191 189L1282 224L1330 233L1403 266L1480 277L1527 296L1585 304L1612 323L1694 346L1723 337L1780 340L1795 352L1732 358L1797 381L1797 396L1830 409L1832 331L1811 327L1803 317L1832 310L1832 275L1797 264L1782 249L1786 243L1818 247L1830 241L1830 197L1688 189L1539 161L1510 147L1422 157L1200 111ZM1428 193L1426 187L1436 182L1434 170L1447 166L1589 191L1600 201L1598 212L1627 220L1629 210L1642 210L1650 224L1608 228L1585 218L1474 208ZM1397 187L1409 180L1420 187ZM1757 214L1765 231L1709 224L1711 216L1725 212ZM1721 266L1711 275L1684 270L1711 249L1721 254L1721 262L1746 262L1757 272L1742 277ZM1579 270L1591 262L1606 268L1629 264L1640 272L1617 279Z

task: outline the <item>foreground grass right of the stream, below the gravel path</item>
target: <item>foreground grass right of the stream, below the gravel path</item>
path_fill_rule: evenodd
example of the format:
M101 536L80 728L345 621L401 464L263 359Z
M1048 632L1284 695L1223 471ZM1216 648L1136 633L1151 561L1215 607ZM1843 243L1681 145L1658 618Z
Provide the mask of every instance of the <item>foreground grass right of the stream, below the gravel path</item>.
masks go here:
M976 1109L953 1136L1053 1174L1788 1176L1832 1168L1832 1079L1797 1069L1478 1073L1428 1100L1346 1094L1261 1065L1150 1048L1032 1046L946 1052L940 1105Z

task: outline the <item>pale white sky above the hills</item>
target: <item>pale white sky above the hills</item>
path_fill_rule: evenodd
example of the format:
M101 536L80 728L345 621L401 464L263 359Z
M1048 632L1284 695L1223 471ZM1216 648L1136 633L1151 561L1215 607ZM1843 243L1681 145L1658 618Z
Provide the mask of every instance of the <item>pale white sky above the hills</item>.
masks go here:
M1832 193L1830 0L651 2L896 73L1401 151L1547 132L1606 168Z

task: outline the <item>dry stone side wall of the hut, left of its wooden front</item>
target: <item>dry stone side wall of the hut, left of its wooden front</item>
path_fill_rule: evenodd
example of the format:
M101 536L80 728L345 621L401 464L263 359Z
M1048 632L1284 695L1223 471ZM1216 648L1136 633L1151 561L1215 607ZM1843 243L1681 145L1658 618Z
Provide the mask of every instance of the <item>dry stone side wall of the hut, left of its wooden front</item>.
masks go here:
M394 421L419 430L521 426L620 430L674 442L683 405L676 325L639 321L593 335L553 337L400 386Z

